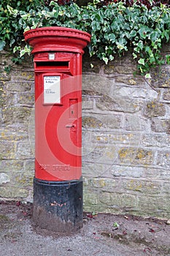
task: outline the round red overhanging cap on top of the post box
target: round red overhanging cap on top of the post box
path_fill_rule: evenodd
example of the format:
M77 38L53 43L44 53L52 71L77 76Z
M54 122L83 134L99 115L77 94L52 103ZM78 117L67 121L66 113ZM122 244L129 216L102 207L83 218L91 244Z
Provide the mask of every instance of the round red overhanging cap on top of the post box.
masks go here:
M26 42L32 46L32 53L66 51L83 53L90 42L90 34L78 29L51 26L31 29L24 33Z

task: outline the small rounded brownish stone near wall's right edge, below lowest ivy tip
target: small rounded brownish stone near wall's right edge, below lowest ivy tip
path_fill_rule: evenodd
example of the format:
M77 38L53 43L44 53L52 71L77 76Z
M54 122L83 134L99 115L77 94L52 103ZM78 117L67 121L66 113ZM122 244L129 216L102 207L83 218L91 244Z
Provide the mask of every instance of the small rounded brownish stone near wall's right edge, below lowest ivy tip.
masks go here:
M147 105L144 109L145 116L148 117L157 117L157 116L165 116L166 108L163 103L160 102L147 102Z

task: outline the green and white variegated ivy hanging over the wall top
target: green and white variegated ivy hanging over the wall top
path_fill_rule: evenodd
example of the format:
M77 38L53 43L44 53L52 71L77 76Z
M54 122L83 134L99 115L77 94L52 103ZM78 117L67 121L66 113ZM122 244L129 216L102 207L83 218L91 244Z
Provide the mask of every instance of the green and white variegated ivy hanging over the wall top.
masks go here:
M47 7L44 1L36 0L32 1L34 5L21 10L22 1L17 1L15 9L10 4L12 1L7 1L9 5L5 10L0 4L0 50L9 45L15 51L20 50L23 56L30 51L27 45L24 49L21 47L23 31L42 26L66 26L89 32L92 36L88 45L90 56L96 55L106 64L129 48L133 49L142 74L164 61L169 63L169 56L166 60L161 56L161 47L169 42L170 35L170 9L163 4L148 10L138 4L125 7L121 1L102 7L98 7L97 1L83 7L75 3L61 6L51 1Z

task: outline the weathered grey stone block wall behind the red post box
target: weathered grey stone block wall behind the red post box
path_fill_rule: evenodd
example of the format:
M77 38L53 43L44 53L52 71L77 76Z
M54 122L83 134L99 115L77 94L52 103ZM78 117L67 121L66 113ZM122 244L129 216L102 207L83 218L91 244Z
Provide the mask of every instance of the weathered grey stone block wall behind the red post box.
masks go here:
M169 51L169 45L163 54ZM1 53L0 197L32 200L32 61L4 72ZM9 61L7 61L9 62ZM91 68L93 66L93 68ZM130 55L107 66L84 56L82 173L85 211L170 216L170 65L146 80Z

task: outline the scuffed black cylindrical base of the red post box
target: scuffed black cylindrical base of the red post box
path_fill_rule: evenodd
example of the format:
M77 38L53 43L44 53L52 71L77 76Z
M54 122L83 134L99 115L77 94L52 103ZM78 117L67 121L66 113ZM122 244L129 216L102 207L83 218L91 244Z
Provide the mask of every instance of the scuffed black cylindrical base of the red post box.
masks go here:
M36 225L60 233L82 227L82 178L79 181L42 181L34 178Z

